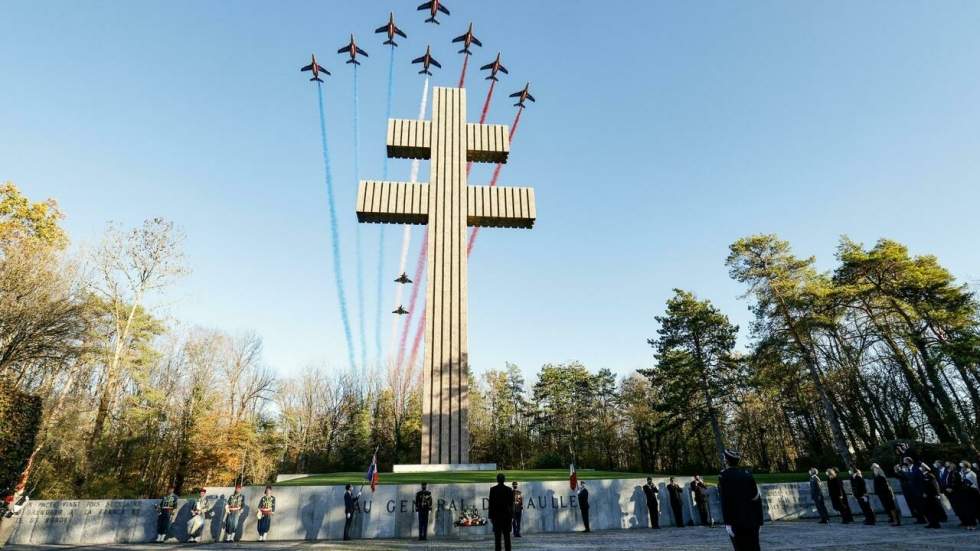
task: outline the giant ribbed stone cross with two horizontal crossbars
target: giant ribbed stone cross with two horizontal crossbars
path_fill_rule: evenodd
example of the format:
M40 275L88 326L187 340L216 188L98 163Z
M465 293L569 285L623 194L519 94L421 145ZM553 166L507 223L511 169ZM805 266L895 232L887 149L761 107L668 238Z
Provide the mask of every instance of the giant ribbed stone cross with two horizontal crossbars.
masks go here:
M534 190L469 186L469 161L505 163L507 126L466 122L466 90L434 88L432 121L388 121L388 156L430 159L428 183L361 181L359 222L428 224L422 463L469 463L466 227L530 228Z

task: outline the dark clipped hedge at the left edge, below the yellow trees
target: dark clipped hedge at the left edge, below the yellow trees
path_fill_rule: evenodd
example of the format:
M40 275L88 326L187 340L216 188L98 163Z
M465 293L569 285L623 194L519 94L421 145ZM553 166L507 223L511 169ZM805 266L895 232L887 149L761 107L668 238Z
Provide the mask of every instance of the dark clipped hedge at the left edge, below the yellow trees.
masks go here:
M0 381L0 497L13 493L41 426L41 399Z

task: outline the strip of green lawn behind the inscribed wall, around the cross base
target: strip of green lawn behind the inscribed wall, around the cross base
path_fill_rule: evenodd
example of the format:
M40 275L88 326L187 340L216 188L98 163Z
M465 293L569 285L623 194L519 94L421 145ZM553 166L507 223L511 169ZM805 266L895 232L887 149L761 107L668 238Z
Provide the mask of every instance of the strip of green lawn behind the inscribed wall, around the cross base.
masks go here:
M508 481L516 480L530 481L530 480L568 480L568 469L537 469L530 471L448 471L441 473L381 473L379 483L385 484L420 484L422 482L428 482L429 484L467 484L467 483L478 483L478 484L492 484L496 478L497 473L502 472L507 475ZM586 471L582 470L578 472L579 479L582 480L593 480L593 479L608 479L608 478L646 478L646 473L624 473L618 471ZM662 478L669 475L653 475L656 478ZM804 482L809 480L809 475L806 473L775 473L775 474L757 474L755 479L759 483L771 483L771 482ZM718 482L718 476L705 476L704 480L708 484L715 484ZM276 486L341 486L344 484L354 484L360 485L365 484L364 473L362 472L344 472L344 473L327 473L327 474L314 474L303 478L297 478L295 480L288 480L286 482L279 482Z

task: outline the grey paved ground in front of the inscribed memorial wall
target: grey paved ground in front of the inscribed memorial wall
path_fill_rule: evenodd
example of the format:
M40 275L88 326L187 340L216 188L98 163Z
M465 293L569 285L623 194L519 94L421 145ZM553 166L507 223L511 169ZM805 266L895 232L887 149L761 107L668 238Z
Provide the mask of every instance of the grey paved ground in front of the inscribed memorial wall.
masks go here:
M10 550L36 549L119 549L149 551L152 549L269 549L322 550L364 549L367 551L477 551L493 549L492 539L481 540L356 540L350 542L244 542L237 544L140 544L105 547L28 547L10 546ZM926 530L921 526L888 525L863 526L851 524L820 525L814 522L777 522L762 530L765 550L840 549L854 551L947 551L953 549L980 550L980 532L967 532L946 527ZM8 548L5 548L8 549ZM662 549L668 551L708 551L731 549L724 528L665 528L661 530L610 530L591 534L534 534L515 540L515 551L636 551Z

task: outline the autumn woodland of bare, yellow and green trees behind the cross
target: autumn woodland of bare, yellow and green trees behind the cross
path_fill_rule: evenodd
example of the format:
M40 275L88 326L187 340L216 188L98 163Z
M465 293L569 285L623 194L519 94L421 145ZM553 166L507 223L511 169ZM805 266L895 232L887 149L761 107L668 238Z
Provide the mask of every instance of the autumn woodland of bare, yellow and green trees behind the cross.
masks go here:
M80 254L61 218L0 186L0 382L43 405L24 465L33 497L360 471L375 450L383 469L418 461L417 366L277 377L257 335L153 307L186 273L171 223L110 225ZM975 453L980 308L935 257L843 239L822 273L763 235L733 243L726 265L754 313L748 346L709 300L676 290L651 323L648 369L471 375L471 458L692 473L717 470L724 447L769 471L863 466L893 440Z

